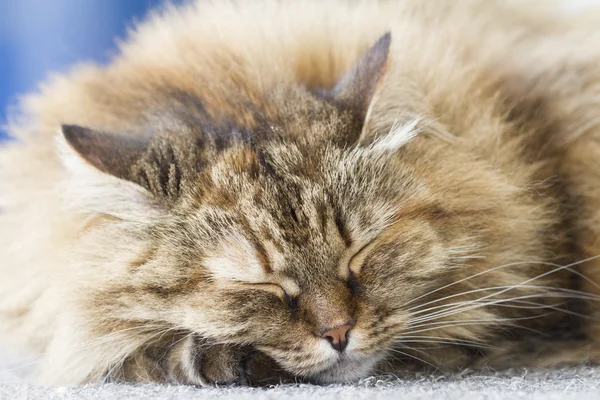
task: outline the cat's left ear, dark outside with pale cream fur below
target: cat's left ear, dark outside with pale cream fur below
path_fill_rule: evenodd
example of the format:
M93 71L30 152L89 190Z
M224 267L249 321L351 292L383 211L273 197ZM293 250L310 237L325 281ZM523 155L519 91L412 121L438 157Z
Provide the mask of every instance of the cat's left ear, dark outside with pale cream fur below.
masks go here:
M150 136L122 136L63 125L57 137L65 167L65 204L76 211L146 221L160 214L156 197L132 179Z

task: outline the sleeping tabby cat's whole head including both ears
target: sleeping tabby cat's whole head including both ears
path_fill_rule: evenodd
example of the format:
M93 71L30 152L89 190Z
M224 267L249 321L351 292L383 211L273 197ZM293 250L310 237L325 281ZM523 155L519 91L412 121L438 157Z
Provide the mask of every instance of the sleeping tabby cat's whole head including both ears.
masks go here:
M64 126L65 200L102 219L82 244L104 274L84 294L98 321L252 345L321 382L371 372L401 336L431 336L417 306L465 291L450 282L497 217L469 200L508 194L439 146L407 151L418 120L366 139L389 45L331 90L267 94L275 111L255 126L199 114L126 136ZM487 310L467 315L490 323L433 336L460 345L493 325Z

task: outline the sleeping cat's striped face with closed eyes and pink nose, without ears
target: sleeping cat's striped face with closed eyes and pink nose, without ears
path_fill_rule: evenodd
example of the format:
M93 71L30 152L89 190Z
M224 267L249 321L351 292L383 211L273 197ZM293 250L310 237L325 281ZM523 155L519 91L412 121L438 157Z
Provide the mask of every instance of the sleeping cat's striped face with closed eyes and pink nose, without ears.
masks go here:
M161 287L177 293L164 307L295 374L364 375L405 328L404 304L451 262L440 210L399 173L399 157L377 146L232 149L203 196L188 195L157 229L160 262L191 272L186 290Z

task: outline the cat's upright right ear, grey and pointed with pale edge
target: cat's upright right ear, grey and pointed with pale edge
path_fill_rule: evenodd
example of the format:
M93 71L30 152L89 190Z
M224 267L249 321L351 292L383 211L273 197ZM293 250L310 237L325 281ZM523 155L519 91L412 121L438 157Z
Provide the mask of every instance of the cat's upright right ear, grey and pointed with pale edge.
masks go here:
M368 127L373 104L388 70L391 41L390 32L381 36L333 89L325 93L334 104L350 113L353 123L360 128L361 136Z

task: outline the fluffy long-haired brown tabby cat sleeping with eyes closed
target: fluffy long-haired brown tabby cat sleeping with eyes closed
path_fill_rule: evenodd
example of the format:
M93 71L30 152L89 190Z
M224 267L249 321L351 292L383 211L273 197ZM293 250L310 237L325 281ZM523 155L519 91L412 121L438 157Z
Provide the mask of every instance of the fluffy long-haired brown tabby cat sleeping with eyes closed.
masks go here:
M47 384L599 361L599 20L490 0L152 13L7 128L2 331Z

